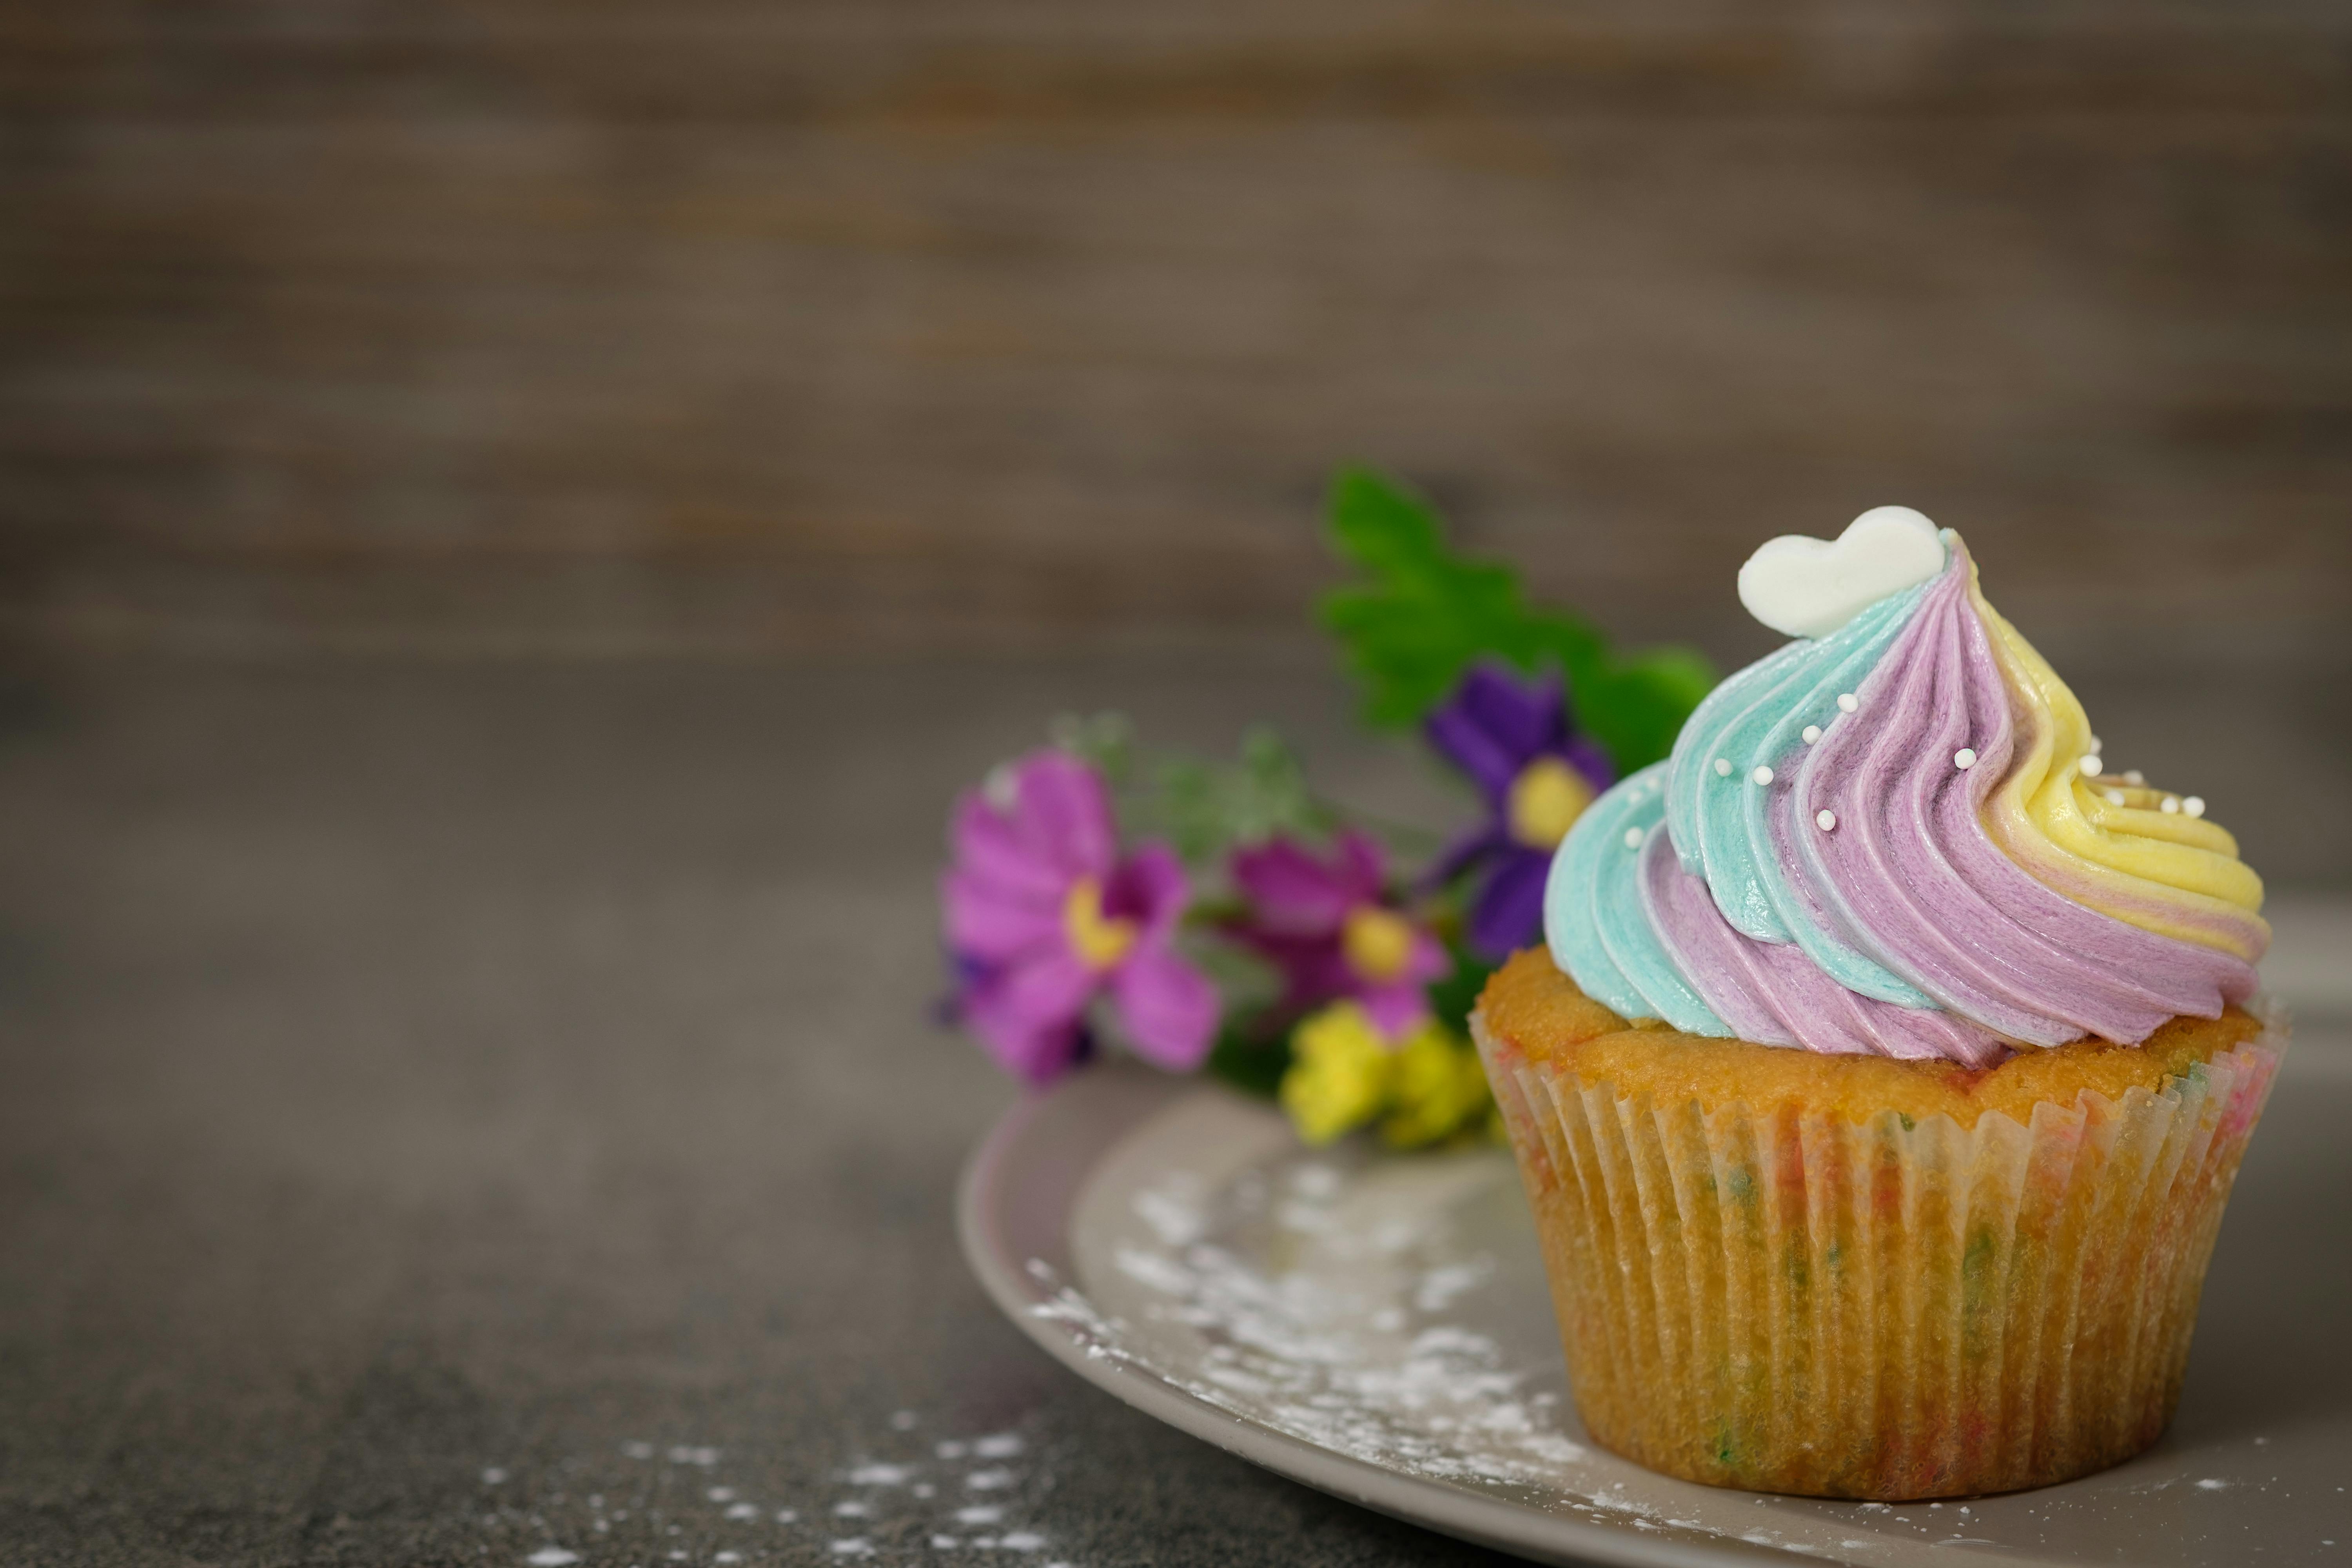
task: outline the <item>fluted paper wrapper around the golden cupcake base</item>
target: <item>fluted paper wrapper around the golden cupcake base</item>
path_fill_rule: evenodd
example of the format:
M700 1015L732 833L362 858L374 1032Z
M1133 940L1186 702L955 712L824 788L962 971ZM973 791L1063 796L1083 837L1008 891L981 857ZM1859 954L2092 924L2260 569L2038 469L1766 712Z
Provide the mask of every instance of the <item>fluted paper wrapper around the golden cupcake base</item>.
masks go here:
M1962 1131L1653 1105L1472 1034L1590 1434L1691 1481L1882 1500L2046 1486L2164 1432L2286 1046Z

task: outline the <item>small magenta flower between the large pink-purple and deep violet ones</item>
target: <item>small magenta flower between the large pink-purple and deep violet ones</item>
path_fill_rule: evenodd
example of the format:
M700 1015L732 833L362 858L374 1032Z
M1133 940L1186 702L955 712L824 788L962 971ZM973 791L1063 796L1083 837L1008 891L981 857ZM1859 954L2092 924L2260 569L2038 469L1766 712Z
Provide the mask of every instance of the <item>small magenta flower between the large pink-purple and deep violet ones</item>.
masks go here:
M1428 1018L1423 987L1451 969L1435 936L1383 898L1381 846L1343 832L1319 860L1294 839L1232 856L1249 914L1228 933L1265 954L1284 980L1279 1009L1308 1013L1352 997L1390 1039Z

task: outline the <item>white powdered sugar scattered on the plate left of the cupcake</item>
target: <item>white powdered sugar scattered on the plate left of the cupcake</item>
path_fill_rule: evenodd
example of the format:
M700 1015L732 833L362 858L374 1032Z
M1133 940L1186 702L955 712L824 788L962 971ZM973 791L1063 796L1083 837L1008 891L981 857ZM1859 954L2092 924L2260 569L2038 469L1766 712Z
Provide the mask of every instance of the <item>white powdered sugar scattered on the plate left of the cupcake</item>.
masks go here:
M1129 1328L1150 1324L1152 1371L1322 1448L1559 1490L1590 1458L1559 1429L1559 1378L1505 1366L1458 1312L1496 1260L1456 1208L1494 1175L1486 1152L1294 1152L1228 1182L1174 1168L1127 1194L1098 1251L1082 1248L1089 1288L1040 1312L1084 1326L1105 1356L1136 1354ZM1183 1368L1167 1363L1174 1347ZM1559 1500L1621 1507L1597 1488Z

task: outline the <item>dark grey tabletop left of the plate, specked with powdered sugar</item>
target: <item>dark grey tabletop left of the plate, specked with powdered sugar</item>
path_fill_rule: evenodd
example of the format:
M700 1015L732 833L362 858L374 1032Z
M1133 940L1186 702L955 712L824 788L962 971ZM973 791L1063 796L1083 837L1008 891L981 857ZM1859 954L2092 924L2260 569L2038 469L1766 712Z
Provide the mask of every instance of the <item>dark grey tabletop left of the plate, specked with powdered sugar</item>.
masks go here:
M1305 670L16 661L0 1561L1496 1561L1127 1410L957 1258L1011 1088L924 1020L943 806L1110 701L1432 802Z

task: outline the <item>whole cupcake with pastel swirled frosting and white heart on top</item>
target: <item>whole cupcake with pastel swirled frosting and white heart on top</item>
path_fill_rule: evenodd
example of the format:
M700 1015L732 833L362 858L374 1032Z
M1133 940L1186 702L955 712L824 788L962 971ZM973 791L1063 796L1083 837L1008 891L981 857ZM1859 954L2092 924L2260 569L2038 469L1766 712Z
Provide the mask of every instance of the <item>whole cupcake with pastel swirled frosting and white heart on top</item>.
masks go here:
M1828 1497L2114 1465L2286 1046L2263 884L1950 529L1771 541L1740 599L1795 642L1585 809L1472 1018L1585 1427Z

